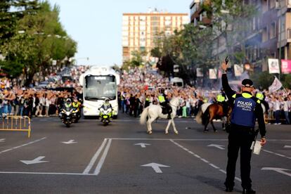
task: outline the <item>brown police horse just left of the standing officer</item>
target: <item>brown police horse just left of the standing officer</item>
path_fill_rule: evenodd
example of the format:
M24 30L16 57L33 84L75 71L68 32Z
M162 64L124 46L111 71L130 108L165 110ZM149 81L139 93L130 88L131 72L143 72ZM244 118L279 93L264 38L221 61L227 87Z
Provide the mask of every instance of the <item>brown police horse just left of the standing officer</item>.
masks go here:
M205 111L205 106L207 107ZM200 110L198 111L198 114L196 115L196 122L199 124L203 124L205 126L204 131L207 132L207 125L210 123L213 127L214 132L217 132L217 129L215 129L214 124L213 124L213 119L221 119L223 120L222 123L222 128L225 129L226 123L229 123L230 121L230 116L231 116L231 106L228 105L228 110L227 110L227 115L226 115L226 120L224 119L224 108L221 104L219 103L205 103L200 107Z

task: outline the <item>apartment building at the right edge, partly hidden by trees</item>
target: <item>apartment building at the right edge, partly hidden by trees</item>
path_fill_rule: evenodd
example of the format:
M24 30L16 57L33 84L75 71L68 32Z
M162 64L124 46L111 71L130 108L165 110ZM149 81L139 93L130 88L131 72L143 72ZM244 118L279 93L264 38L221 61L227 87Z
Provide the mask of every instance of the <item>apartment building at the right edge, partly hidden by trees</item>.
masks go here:
M243 47L248 63L255 71L268 70L267 58L291 59L291 0L244 0L255 8L254 17L244 23L243 41L231 43L233 51ZM190 21L193 25L211 25L201 4L211 4L211 0L193 0L190 4ZM227 11L225 11L227 14ZM228 33L232 34L229 29ZM232 34L233 35L233 34ZM235 35L234 35L235 36ZM212 55L219 58L226 53L226 38L218 34L213 40ZM280 53L280 56L279 56Z

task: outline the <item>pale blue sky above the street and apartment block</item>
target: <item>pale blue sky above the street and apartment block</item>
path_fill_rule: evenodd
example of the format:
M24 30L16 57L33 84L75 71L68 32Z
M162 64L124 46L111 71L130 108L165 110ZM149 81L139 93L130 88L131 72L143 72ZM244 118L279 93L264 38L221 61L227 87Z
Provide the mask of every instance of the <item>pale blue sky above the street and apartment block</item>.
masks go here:
M60 22L77 41L78 65L122 65L122 13L148 8L190 13L193 0L48 0L60 7ZM189 16L190 17L190 16Z

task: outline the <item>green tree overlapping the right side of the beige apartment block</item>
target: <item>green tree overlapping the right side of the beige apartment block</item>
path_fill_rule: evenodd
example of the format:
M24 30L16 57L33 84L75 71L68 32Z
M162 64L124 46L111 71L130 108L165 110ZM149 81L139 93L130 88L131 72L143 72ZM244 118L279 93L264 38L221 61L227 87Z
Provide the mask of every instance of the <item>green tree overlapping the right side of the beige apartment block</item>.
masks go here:
M214 65L211 55L212 28L200 30L199 27L188 24L184 25L183 30L175 31L172 36L167 37L162 32L157 37L151 55L158 57L161 54L169 57L174 64L181 66L183 75L191 73L187 70L188 65L203 67L205 70ZM172 70L170 64L168 68L160 66L161 70Z

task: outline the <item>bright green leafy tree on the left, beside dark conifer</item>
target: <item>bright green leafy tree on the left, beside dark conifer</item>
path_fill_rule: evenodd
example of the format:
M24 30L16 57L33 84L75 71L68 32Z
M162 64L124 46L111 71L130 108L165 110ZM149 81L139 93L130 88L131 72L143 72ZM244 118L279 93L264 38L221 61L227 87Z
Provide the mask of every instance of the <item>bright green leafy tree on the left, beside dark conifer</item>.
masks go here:
M24 4L25 1L18 3ZM23 71L27 84L32 82L36 72L48 73L51 60L60 64L61 60L71 58L77 51L77 43L60 24L58 6L51 8L48 1L41 1L37 7L34 13L26 13L17 21L13 36L0 46L7 61L3 69L11 76ZM18 64L23 70L12 73L11 68L6 67L9 64Z

